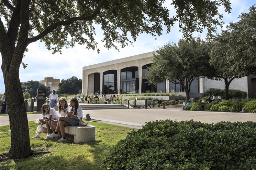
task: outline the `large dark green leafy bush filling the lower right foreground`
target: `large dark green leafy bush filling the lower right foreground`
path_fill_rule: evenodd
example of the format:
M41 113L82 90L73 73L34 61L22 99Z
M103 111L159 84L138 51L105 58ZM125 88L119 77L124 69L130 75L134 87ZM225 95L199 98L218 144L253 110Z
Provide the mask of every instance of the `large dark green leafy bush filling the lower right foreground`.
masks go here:
M160 120L147 122L121 140L104 159L104 169L255 169L255 122Z

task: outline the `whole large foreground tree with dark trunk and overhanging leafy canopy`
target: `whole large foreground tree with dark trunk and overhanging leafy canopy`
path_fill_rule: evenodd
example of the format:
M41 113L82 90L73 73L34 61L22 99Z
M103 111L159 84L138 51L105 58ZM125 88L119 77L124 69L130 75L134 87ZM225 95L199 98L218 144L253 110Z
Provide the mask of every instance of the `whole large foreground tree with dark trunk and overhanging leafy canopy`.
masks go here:
M0 52L10 113L9 157L24 158L33 153L19 79L24 51L30 43L40 40L53 53L76 43L99 51L94 39L95 26L99 25L104 46L118 49L116 44L124 47L141 33L161 35L163 26L169 32L176 21L185 36L203 28L211 35L222 24L219 6L224 5L226 12L231 9L229 0L168 2L176 9L173 17L165 7L165 0L2 0ZM23 123L16 123L17 120Z

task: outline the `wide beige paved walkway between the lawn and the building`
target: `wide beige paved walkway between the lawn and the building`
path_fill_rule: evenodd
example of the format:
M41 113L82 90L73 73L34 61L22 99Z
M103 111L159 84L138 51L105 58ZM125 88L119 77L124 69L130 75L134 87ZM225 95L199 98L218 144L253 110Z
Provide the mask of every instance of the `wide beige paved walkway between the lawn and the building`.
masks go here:
M223 113L223 112L192 112L180 110L181 106L168 106L166 109L158 108L142 108L142 109L104 109L104 110L83 110L84 117L89 114L94 120L103 123L126 126L140 129L148 121L155 120L191 120L207 123L220 121L254 121L256 122L256 114L251 113ZM28 120L42 118L41 114L27 115ZM0 126L9 125L8 116L0 116Z

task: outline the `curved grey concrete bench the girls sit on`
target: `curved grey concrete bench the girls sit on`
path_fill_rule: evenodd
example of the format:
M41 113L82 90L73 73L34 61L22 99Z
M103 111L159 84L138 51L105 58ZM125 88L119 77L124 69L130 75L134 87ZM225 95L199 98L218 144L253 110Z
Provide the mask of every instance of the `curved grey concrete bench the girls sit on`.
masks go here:
M47 133L46 125L43 125L43 133ZM67 126L65 133L74 135L75 143L86 143L95 141L95 126Z

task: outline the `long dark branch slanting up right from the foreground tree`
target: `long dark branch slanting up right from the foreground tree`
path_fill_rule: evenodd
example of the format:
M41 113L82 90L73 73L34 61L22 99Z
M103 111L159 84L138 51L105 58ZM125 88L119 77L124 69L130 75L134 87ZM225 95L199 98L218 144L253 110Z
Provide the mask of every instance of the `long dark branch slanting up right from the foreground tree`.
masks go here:
M99 13L100 13L100 9L103 6L103 3L105 2L105 0L101 0L99 5L97 6L97 8L94 10L94 12L90 15L90 16L78 16L78 17L73 17L73 18L69 18L66 21L60 21L57 23L52 24L51 26L47 27L43 32L41 32L40 34L38 34L37 36L30 38L27 41L27 45L35 42L37 40L40 40L41 38L43 38L44 36L46 36L47 34L49 34L50 32L52 32L54 29L56 29L58 26L61 25L70 25L73 22L76 21L92 21L92 19L94 17L96 17Z

